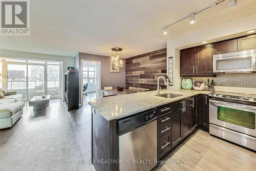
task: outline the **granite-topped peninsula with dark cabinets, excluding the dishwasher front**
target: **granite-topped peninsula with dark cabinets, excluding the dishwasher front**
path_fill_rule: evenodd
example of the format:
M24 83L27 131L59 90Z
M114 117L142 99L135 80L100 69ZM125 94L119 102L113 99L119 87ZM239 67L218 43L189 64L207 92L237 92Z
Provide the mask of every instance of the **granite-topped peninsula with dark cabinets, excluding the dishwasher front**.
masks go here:
M95 170L125 170L120 169L121 164L119 163L123 151L123 148L120 149L123 147L121 142L125 143L120 138L123 136L120 127L122 123L130 122L132 120L130 117L144 115L142 120L145 123L156 123L156 126L150 128L153 128L153 132L156 134L155 142L148 142L148 144L152 143L154 145L153 148L148 146L148 151L156 151L156 160L160 160L170 151L172 146L177 145L198 127L198 96L200 94L208 95L210 92L194 90L161 91L161 94L165 93L179 94L180 96L164 98L156 96L156 91L148 91L103 97L89 102L92 106L92 160L97 161L93 162ZM193 111L195 111L194 114ZM132 146L127 146L127 148L132 148ZM133 169L139 170L136 166Z

